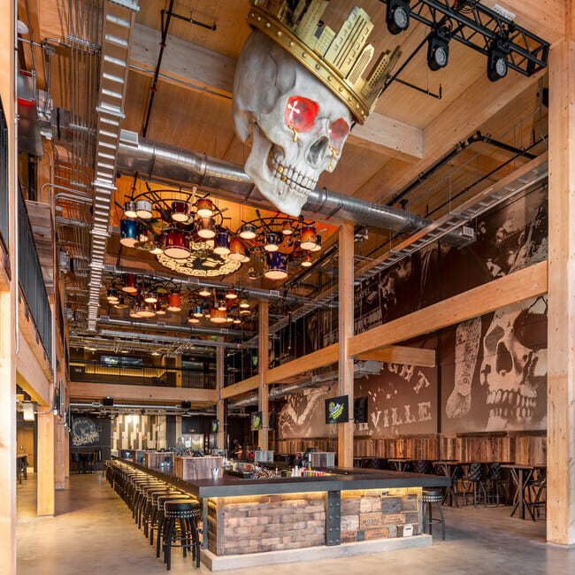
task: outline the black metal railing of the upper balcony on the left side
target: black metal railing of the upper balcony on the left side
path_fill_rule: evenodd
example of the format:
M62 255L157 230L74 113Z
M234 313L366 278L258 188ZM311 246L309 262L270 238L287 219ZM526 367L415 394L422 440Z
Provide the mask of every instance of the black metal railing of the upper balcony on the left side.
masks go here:
M19 284L26 297L27 306L48 357L52 357L52 311L42 267L36 252L34 234L28 219L26 203L21 192L18 196L18 265Z

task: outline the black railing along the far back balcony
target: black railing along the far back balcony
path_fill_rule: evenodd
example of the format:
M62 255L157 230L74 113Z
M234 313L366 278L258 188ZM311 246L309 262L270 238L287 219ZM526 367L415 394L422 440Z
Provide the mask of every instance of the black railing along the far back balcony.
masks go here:
M71 361L70 380L130 386L216 388L215 373L164 365L107 365L100 362Z

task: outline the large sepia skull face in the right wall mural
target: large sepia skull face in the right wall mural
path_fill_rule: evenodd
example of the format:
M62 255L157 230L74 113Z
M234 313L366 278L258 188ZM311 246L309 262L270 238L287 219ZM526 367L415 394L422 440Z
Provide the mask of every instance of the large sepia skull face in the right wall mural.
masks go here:
M487 384L488 429L525 426L545 414L547 349L541 296L495 311L483 341L481 384Z

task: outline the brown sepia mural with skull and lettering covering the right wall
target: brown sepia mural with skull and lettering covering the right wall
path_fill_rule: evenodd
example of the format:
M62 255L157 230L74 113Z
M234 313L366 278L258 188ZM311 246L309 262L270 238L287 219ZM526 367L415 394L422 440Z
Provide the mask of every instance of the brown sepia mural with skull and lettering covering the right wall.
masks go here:
M435 243L356 288L356 333L545 260L547 187L503 204L474 226L477 241L470 246ZM332 342L334 321L319 318L323 347ZM357 434L546 428L547 296L411 344L438 349L439 369L383 364L380 375L356 380L355 395L368 396L369 413L367 424L356 425ZM323 423L326 396L318 390L289 396L279 411L280 438L333 436L335 429Z

